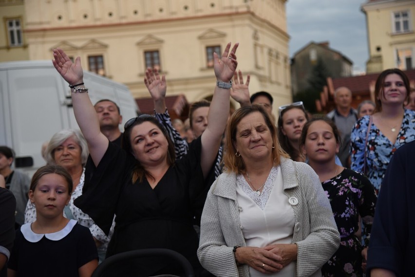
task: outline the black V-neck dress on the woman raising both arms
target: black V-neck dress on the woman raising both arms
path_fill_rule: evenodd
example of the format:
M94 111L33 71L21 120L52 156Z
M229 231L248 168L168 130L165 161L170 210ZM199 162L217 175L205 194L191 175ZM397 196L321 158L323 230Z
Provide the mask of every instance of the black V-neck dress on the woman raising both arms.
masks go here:
M199 138L152 189L147 179L132 183L132 170L137 161L131 154L109 144L91 180L86 182L82 196L75 200L75 205L106 233L116 215L107 257L135 249L168 248L185 256L196 273L203 271L196 256L199 241L192 219L194 211L201 210L204 204L201 199L211 185L211 178L203 178L200 155ZM211 171L209 176L214 174ZM180 275L182 271L171 259L149 257L117 264L108 276L159 274Z

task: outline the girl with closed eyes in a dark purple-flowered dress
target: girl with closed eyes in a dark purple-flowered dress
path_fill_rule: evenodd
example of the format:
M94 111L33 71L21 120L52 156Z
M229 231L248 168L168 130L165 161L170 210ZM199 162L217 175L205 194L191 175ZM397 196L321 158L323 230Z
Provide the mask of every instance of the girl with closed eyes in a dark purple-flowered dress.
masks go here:
M300 146L308 157L308 164L320 177L340 232L340 248L323 265L322 275L362 276L367 248L362 247L355 233L360 215L366 235L364 245L369 245L375 215L375 189L363 174L336 165L340 133L332 120L317 117L304 124Z

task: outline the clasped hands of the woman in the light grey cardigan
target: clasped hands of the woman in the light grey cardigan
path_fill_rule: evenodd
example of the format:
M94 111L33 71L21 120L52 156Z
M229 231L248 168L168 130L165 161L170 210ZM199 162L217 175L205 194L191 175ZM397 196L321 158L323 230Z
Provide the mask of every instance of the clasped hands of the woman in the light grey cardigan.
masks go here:
M265 274L280 272L283 268L280 256L260 247L239 247L235 255L238 262Z

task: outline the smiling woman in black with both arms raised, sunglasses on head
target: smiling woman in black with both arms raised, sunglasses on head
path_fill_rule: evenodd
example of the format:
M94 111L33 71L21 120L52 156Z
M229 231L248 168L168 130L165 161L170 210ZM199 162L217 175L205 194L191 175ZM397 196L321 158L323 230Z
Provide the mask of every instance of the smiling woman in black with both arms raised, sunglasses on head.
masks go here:
M196 274L202 274L193 229L194 203L206 192L205 180L213 165L229 114L229 88L235 72L235 44L228 43L222 56L214 54L217 78L208 113L208 126L189 145L188 154L175 162L174 146L166 130L150 115L125 125L122 148L100 132L96 112L83 85L80 58L73 63L54 49L53 64L70 84L76 121L84 134L94 172L84 194L75 202L108 232L113 215L116 225L107 251L114 254L144 248L168 248L186 257ZM178 265L163 257L132 259L118 264L109 276L183 274Z

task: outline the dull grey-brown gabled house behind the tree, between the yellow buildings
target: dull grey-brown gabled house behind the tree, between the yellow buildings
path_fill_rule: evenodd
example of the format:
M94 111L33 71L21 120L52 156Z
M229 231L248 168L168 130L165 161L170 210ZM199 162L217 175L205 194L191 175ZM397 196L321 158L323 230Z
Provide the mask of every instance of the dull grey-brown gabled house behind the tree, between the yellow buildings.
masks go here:
M293 93L308 89L313 67L322 63L326 77L347 77L352 75L353 62L329 47L329 42L310 42L297 51L291 59L291 81Z

